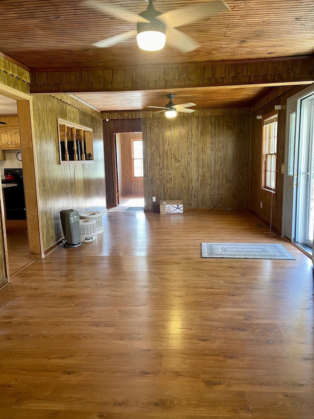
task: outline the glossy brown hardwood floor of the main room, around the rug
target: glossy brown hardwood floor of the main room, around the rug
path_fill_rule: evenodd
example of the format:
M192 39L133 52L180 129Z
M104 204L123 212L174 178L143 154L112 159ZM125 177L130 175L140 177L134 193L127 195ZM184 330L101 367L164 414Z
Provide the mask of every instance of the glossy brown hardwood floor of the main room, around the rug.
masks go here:
M0 292L0 418L313 419L311 259L245 212L107 212ZM201 242L296 260L204 259Z

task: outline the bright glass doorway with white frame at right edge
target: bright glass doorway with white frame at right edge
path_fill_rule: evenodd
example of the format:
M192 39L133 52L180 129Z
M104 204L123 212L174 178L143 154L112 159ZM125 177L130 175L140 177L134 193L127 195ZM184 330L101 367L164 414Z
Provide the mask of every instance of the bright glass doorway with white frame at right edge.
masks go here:
M283 235L313 254L314 240L314 90L287 102L286 174Z

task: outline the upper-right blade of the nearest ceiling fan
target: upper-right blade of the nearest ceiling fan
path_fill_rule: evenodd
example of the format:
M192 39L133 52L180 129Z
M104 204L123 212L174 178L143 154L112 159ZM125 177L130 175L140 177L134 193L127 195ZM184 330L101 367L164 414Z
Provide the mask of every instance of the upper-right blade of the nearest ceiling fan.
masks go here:
M230 10L224 1L209 1L195 6L180 7L179 9L169 10L158 16L166 28L178 28L178 26L205 19L208 16Z

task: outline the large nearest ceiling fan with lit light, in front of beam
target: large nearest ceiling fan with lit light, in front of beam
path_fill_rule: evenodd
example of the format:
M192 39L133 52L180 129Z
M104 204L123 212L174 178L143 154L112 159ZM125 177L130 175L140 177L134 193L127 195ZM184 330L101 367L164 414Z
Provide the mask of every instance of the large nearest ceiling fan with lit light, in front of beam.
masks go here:
M88 0L87 4L95 9L136 23L136 29L106 38L94 45L107 48L136 36L139 48L145 51L158 51L164 47L167 37L167 43L172 47L183 52L193 51L199 47L199 43L176 28L207 18L214 13L230 10L224 1L217 0L162 13L155 9L153 4L155 0L146 1L149 1L147 9L137 15L117 4L112 4L112 1Z

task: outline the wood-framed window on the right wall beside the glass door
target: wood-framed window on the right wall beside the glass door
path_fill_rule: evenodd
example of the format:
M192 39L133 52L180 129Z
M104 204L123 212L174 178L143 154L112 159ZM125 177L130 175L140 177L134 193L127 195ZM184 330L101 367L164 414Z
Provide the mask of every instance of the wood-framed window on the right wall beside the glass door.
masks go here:
M273 192L276 190L277 121L278 112L263 118L262 188Z

